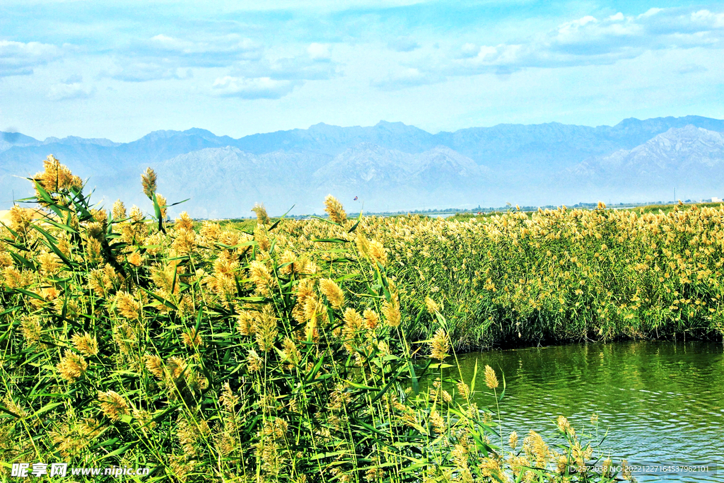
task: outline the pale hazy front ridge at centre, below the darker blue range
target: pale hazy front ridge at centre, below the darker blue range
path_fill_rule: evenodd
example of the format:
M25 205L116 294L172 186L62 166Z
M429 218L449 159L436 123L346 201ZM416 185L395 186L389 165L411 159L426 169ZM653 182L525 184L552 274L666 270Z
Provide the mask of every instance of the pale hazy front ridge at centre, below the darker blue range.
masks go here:
M206 148L169 159L158 168L161 193L185 193L194 217L230 217L263 201L271 212L321 212L334 193L350 209L470 204L487 182L487 169L450 148L419 154L360 143L337 156L239 148ZM282 186L283 189L279 189ZM358 203L352 203L358 197ZM239 215L236 215L239 216Z

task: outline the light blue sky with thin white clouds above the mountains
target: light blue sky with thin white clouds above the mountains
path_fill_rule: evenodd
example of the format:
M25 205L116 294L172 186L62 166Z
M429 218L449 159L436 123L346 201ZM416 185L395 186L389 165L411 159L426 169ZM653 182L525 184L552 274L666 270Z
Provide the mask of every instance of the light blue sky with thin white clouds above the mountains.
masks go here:
M0 0L0 130L724 118L724 4Z

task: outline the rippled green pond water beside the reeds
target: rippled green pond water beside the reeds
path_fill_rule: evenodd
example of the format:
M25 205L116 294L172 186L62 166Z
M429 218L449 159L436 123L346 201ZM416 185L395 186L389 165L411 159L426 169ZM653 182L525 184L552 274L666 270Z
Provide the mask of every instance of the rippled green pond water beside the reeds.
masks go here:
M530 429L553 442L563 414L577 432L599 416L602 448L635 465L708 465L709 471L634 473L639 482L724 482L724 353L721 344L626 342L493 350L458 356L463 378L487 390L489 364L505 374L500 412L507 445ZM455 373L450 376L455 377ZM479 406L494 409L490 395ZM585 427L585 428L584 428ZM670 470L669 468L667 468ZM650 470L650 468L649 468Z

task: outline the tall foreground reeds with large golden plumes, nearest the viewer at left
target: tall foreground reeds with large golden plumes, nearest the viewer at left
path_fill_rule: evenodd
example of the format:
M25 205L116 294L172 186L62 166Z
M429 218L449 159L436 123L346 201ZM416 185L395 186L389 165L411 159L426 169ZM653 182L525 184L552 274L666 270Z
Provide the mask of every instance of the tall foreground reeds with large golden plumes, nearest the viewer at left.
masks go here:
M185 214L166 222L150 169L145 217L120 201L93 206L52 156L44 168L31 180L43 217L14 208L0 244L4 479L12 463L56 461L149 467L124 476L144 482L628 477L581 468L610 465L595 417L576 432L561 416L556 441L532 429L519 441L474 402L481 390L500 400L502 374L441 377L455 361L445 290L494 284L482 267L505 261L478 251L480 237L518 253L531 243L514 235L522 217L348 219L330 196L329 220L272 223L257 206L243 232Z

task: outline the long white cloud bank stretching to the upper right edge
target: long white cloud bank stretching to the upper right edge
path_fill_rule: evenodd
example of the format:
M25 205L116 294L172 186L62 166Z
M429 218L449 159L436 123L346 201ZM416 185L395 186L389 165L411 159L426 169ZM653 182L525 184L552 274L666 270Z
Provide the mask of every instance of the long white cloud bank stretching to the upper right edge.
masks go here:
M724 46L724 13L709 10L649 9L597 19L586 15L521 41L478 46L465 43L442 52L437 62L416 64L421 72L477 75L514 72L526 67L572 67L613 64L645 51Z

